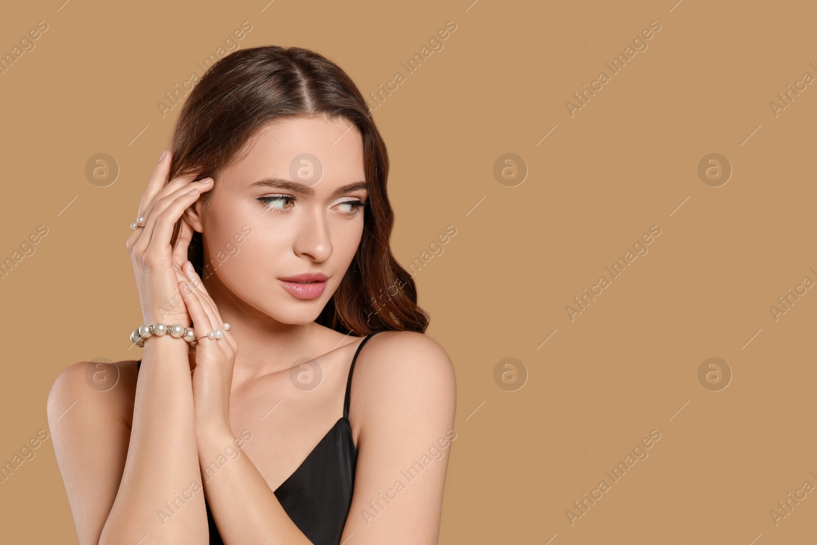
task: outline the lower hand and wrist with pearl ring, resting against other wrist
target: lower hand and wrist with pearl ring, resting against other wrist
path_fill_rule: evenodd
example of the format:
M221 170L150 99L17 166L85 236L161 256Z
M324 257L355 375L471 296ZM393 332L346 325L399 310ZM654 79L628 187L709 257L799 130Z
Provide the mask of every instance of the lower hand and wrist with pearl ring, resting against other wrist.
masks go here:
M199 341L195 349L193 370L193 404L196 437L233 436L230 427L230 387L233 384L233 366L239 350L238 342L222 327L224 322L216 303L204 288L190 261L182 266L188 278L186 286L179 283L179 291L193 320L193 329ZM221 329L220 339L208 338L211 331Z

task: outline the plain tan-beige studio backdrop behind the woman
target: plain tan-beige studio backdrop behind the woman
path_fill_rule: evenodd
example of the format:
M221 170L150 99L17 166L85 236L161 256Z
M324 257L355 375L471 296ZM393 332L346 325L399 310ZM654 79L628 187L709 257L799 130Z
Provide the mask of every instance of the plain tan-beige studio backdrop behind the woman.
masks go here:
M674 2L4 7L0 52L48 30L0 75L0 257L48 235L0 279L0 460L47 429L61 369L140 354L124 240L179 111L159 113L166 92L248 20L240 47L310 47L368 96L453 20L374 113L396 257L408 267L457 229L415 277L458 377L440 543L810 543L817 492L778 525L770 510L817 485L817 290L776 321L770 306L817 281L817 89L776 117L770 101L817 77L817 8ZM654 20L649 47L571 117L565 101ZM99 153L120 168L108 187L84 172ZM529 169L516 187L493 176L506 153ZM720 187L698 175L712 153L734 169ZM571 321L565 306L654 225L649 252ZM494 380L509 357L527 373L516 391ZM710 357L733 373L721 391L699 382ZM649 457L570 525L651 430ZM51 440L36 453L0 485L2 540L76 543Z

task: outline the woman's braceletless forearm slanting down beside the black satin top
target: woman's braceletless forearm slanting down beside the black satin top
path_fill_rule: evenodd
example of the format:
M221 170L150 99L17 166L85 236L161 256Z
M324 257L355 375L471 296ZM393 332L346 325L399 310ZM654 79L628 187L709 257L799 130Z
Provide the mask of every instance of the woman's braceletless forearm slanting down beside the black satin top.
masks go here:
M288 543L310 545L311 542L283 510L255 464L240 448L239 456L208 475L206 471L225 447L234 445L231 431L199 437L199 460L204 489L219 534L228 545L255 543Z

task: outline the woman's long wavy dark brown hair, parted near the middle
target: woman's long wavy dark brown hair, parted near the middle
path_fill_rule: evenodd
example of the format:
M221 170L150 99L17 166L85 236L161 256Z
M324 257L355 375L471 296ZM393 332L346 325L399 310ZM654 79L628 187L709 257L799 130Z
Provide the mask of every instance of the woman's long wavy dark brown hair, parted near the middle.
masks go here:
M363 95L339 66L301 47L263 46L234 51L203 75L186 98L173 128L169 180L199 172L219 174L267 123L311 115L346 119L363 136L368 205L364 232L341 284L315 322L342 333L425 333L428 315L417 306L417 288L391 253L394 213L386 195L389 157ZM199 200L206 209L211 191ZM171 244L176 245L181 220ZM201 233L188 258L203 277Z

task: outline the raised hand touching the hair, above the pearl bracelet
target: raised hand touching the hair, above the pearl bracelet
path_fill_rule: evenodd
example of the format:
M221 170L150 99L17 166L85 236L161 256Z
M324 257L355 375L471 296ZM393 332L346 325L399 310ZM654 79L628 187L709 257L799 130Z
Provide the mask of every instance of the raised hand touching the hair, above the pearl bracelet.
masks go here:
M190 327L190 314L178 285L185 279L181 266L187 261L193 228L182 220L176 248L171 248L170 240L176 221L213 183L212 178L193 181L198 174L178 176L167 182L171 159L172 154L164 150L139 204L140 215L145 218L141 222L144 228L133 230L125 245L131 254L145 323ZM190 194L191 190L194 194Z

